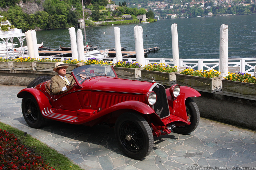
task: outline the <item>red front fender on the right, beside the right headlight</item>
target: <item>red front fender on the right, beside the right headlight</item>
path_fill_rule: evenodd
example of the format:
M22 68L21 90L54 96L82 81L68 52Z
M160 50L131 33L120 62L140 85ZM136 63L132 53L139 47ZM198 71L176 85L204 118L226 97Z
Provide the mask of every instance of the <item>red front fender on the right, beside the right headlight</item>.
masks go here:
M188 97L201 96L201 94L197 90L187 86L180 86L180 95L177 98L173 98L170 95L169 88L166 89L166 95L168 99L170 114L176 115L185 120L186 122L188 121L185 105L186 99Z

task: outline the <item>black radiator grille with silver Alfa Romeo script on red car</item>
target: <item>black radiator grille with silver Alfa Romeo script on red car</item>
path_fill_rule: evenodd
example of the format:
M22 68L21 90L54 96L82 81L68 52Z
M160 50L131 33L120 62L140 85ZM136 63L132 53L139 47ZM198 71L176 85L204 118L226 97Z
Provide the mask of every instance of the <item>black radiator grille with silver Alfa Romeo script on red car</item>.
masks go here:
M154 104L155 113L162 119L170 114L165 88L157 84L152 91L156 93L156 103Z

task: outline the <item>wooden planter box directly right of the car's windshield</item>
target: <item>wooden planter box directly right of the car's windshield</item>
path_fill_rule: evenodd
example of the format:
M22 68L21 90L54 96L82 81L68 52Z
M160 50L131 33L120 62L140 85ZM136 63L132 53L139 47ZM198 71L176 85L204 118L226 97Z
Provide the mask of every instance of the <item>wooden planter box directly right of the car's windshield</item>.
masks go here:
M129 80L140 80L141 79L141 68L123 68L113 67L118 78L129 79Z

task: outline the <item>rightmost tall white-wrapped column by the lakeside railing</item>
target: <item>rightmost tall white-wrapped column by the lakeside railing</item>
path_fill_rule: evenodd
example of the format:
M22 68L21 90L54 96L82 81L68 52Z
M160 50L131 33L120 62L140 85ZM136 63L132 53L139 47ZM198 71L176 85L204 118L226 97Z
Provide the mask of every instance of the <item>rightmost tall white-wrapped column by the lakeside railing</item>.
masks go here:
M220 76L228 75L228 25L222 24L220 26Z

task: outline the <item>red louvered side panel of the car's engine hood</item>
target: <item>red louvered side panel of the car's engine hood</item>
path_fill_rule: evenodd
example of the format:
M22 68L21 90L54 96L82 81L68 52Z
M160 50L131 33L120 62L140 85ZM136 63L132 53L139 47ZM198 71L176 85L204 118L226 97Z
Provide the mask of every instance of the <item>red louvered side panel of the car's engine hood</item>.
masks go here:
M104 95L97 94L96 95L96 105L99 108L108 108L113 106L114 104L121 103L124 101L135 100L140 101L138 97L132 96L119 96L119 95Z

